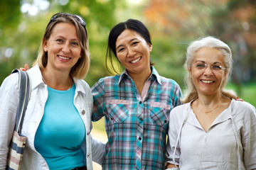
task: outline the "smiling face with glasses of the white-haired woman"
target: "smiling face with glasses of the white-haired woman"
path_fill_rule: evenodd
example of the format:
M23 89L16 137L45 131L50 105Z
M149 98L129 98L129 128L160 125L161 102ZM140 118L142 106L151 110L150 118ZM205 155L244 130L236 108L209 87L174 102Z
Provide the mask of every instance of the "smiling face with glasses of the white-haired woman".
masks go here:
M217 49L203 47L195 53L192 67L188 69L188 72L198 95L220 93L221 84L228 74L224 67L223 54Z

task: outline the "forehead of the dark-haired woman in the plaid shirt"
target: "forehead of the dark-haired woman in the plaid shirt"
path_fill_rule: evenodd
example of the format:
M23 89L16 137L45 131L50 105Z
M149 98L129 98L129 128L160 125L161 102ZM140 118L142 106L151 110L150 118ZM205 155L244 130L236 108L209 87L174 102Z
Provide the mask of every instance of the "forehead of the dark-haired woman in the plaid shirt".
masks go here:
M140 35L136 31L126 29L117 37L116 45L122 44L135 38L139 40L144 40L142 35Z

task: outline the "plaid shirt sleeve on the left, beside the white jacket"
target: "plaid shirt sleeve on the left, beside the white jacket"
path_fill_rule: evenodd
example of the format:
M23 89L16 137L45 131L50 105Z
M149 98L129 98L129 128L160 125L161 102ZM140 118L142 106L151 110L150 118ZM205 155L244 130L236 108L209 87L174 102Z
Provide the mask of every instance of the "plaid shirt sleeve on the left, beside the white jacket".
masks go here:
M92 86L93 108L92 121L100 120L104 116L104 79L100 79Z

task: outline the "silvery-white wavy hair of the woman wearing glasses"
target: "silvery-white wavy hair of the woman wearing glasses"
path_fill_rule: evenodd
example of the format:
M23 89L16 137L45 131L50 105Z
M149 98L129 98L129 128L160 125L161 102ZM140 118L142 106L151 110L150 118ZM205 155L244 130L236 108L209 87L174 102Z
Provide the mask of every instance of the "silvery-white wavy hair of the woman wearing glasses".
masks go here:
M223 80L223 83L220 87L220 93L225 96L226 98L237 98L234 91L226 90L225 85L230 80L230 76L232 73L232 52L230 50L230 47L228 47L225 42L218 40L217 38L213 37L206 37L206 38L200 38L198 40L195 40L191 42L190 45L188 45L187 51L186 51L186 62L184 64L184 68L186 70L191 70L192 62L195 57L195 54L198 50L200 50L202 47L211 47L219 50L223 54L223 60L225 64L225 72L228 72L227 76ZM198 98L198 92L196 91L196 87L193 84L193 81L190 79L189 73L187 73L185 79L185 84L187 87L187 96L183 98L183 103L188 103L190 101L193 101Z

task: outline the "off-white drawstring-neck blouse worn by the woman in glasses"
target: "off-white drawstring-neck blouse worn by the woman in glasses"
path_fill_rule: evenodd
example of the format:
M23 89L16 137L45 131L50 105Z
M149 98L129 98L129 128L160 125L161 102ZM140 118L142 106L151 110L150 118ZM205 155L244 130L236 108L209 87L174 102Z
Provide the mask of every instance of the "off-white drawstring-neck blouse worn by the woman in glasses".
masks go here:
M166 154L180 169L256 169L255 107L232 100L206 132L191 103L177 106L171 110Z

